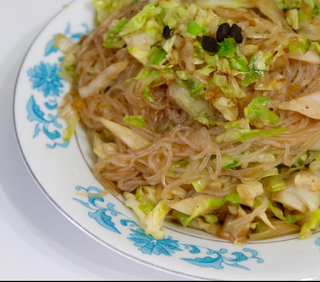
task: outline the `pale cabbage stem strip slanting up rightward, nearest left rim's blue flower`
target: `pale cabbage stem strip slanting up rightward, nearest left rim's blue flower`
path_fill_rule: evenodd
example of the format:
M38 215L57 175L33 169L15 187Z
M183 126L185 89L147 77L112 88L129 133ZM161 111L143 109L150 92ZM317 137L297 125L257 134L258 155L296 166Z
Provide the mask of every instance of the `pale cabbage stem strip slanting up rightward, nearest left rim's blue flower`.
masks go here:
M78 89L81 98L97 94L100 90L114 84L113 79L117 78L122 70L127 66L127 61L119 61L109 65L102 70L89 84Z

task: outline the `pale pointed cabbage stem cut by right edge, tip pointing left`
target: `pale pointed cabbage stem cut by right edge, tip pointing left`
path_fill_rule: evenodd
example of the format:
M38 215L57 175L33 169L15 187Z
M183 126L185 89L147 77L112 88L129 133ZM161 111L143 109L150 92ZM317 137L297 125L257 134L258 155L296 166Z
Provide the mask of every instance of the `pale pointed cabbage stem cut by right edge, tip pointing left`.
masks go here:
M320 90L280 103L281 109L289 109L308 117L320 119Z

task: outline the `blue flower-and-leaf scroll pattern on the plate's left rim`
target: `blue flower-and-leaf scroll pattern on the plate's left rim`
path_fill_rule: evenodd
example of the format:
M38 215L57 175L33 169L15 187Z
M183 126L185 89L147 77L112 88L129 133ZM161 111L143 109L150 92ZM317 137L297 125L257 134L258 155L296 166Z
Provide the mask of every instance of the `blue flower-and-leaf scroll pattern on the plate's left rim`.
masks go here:
M76 41L84 33L89 32L89 27L86 23L82 23L81 26L84 29L84 32L71 33L70 23L67 24L67 27L64 31L64 35L69 39ZM54 34L55 36L55 34ZM53 36L53 38L54 38ZM51 53L57 52L57 48L53 46L53 38L49 40L45 45L44 56L48 56ZM62 60L63 57L60 57L58 60ZM42 131L50 140L50 143L47 143L46 146L50 149L55 148L56 146L67 147L68 142L62 139L62 124L60 124L58 119L58 100L57 97L60 96L63 89L64 80L59 76L59 66L57 63L48 63L40 61L39 64L30 67L27 70L27 75L31 82L31 88L41 92L46 99L43 105L39 105L36 102L36 96L32 94L28 99L26 110L27 110L27 119L31 122L36 121L34 127L33 138L36 137L40 131Z

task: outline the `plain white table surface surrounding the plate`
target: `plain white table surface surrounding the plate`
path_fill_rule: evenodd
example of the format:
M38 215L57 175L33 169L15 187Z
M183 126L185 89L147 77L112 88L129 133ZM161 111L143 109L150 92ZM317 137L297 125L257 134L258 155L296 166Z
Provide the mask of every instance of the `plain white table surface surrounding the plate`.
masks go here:
M0 280L185 280L100 245L42 194L15 140L12 97L23 56L68 0L0 0Z

